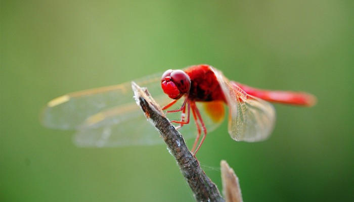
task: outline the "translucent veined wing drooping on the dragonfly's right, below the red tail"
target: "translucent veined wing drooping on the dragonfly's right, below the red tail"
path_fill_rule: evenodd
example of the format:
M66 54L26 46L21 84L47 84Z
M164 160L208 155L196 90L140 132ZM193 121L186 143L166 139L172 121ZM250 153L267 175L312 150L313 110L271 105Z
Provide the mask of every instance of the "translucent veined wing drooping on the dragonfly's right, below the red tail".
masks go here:
M229 134L236 141L260 141L269 137L275 124L274 107L248 95L235 82L214 69L229 106Z

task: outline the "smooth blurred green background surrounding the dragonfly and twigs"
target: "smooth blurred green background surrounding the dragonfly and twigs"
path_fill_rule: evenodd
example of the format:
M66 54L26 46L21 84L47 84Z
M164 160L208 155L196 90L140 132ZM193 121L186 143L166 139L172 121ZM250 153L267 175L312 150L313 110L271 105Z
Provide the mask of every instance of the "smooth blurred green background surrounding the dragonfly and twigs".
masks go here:
M319 99L314 108L276 105L264 142L233 141L227 123L210 133L198 160L219 189L225 159L245 201L353 200L353 8L351 0L1 1L0 200L193 201L165 145L78 148L73 132L43 128L38 114L66 92L203 63Z

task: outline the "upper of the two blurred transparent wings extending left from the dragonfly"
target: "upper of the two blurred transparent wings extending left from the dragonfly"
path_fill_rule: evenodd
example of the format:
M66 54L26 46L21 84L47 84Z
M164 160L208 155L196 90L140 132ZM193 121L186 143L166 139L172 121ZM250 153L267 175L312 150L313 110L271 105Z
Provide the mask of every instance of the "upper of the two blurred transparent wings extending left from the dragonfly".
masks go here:
M157 91L160 76L153 75L140 79L141 85L147 85L149 90ZM85 119L101 111L116 106L134 103L130 82L72 92L57 97L47 104L41 113L41 123L52 129L73 130L82 124Z

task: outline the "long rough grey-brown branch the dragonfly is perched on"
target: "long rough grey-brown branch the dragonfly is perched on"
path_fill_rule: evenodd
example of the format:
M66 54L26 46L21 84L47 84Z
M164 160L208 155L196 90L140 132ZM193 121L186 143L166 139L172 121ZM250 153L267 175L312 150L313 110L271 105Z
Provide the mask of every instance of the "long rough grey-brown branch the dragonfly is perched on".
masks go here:
M141 88L132 82L131 87L135 94L137 104L145 116L149 118L159 130L162 139L177 161L180 170L191 187L197 201L225 201L220 195L216 185L206 176L200 168L198 160L190 153L185 140L163 115L163 112L146 88Z

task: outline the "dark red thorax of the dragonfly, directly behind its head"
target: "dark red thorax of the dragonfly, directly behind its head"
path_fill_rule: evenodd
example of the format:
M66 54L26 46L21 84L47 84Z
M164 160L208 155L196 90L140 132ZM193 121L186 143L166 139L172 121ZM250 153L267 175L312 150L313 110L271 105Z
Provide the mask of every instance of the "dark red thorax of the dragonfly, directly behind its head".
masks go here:
M188 98L195 101L223 100L225 102L224 93L210 66L191 66L184 71L191 79Z

